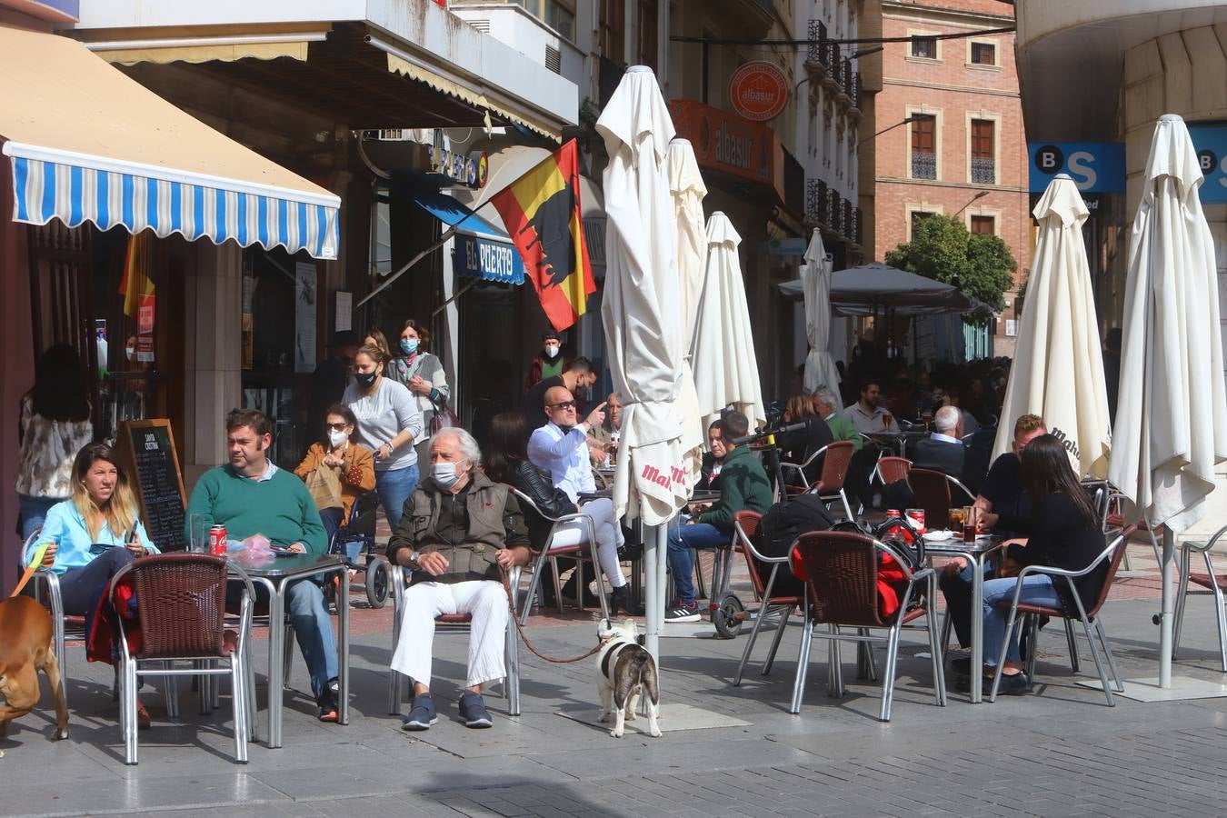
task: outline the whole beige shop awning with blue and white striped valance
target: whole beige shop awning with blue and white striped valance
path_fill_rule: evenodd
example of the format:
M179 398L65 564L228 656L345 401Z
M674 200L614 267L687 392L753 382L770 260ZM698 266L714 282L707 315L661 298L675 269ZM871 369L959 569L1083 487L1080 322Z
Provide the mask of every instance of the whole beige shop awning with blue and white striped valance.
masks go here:
M75 40L0 27L13 220L93 222L335 259L341 200L215 131Z

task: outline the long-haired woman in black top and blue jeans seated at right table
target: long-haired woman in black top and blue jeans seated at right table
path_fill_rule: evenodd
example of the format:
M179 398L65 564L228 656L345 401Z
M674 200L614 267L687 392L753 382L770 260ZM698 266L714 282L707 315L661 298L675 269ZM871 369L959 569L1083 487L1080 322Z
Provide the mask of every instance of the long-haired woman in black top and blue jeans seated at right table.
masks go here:
M1000 525L1027 536L1009 541L1009 556L1021 565L1048 565L1080 571L1094 562L1104 548L1099 515L1086 489L1079 483L1061 441L1044 434L1028 443L1020 455L1022 486L1031 497L1029 518L985 514L988 525ZM1107 579L1108 563L1074 580L1074 587L1085 608L1094 605ZM998 607L1014 596L1016 578L993 579L984 583L984 675L991 679L1000 670L999 693L1018 695L1031 679L1022 672L1017 630L1006 650L1005 665L996 667L1005 639L1006 612ZM1069 584L1054 581L1042 574L1022 580L1020 602L1077 610Z

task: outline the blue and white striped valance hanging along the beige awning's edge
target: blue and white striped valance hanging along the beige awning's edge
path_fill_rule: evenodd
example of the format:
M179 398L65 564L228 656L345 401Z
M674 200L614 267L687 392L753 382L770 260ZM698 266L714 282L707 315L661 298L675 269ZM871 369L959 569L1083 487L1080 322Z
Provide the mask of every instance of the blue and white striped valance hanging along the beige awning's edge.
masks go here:
M12 157L13 221L45 224L59 218L69 227L93 222L104 231L123 226L131 233L152 229L160 237L179 233L215 244L233 239L239 247L283 247L317 259L336 258L340 200L335 196L255 191L236 180L188 174L158 178L151 168L120 169L97 157L52 162L31 158L45 151L16 142L6 142L4 152Z

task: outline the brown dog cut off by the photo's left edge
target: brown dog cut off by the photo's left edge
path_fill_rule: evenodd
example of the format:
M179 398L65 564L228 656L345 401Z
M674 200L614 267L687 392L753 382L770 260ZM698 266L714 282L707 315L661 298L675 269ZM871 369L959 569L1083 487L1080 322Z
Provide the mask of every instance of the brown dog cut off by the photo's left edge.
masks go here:
M0 736L38 704L38 671L55 697L55 737L69 737L69 705L52 650L52 614L28 596L0 601Z

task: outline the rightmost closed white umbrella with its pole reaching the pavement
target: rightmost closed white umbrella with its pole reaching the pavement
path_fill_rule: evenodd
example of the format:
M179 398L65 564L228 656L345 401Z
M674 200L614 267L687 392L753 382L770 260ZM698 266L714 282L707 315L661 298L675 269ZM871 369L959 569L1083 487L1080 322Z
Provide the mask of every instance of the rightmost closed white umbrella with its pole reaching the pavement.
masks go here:
M1126 516L1163 524L1160 687L1172 682L1174 536L1205 513L1215 464L1227 460L1227 392L1215 250L1184 120L1160 118L1129 237L1120 394L1110 480Z

